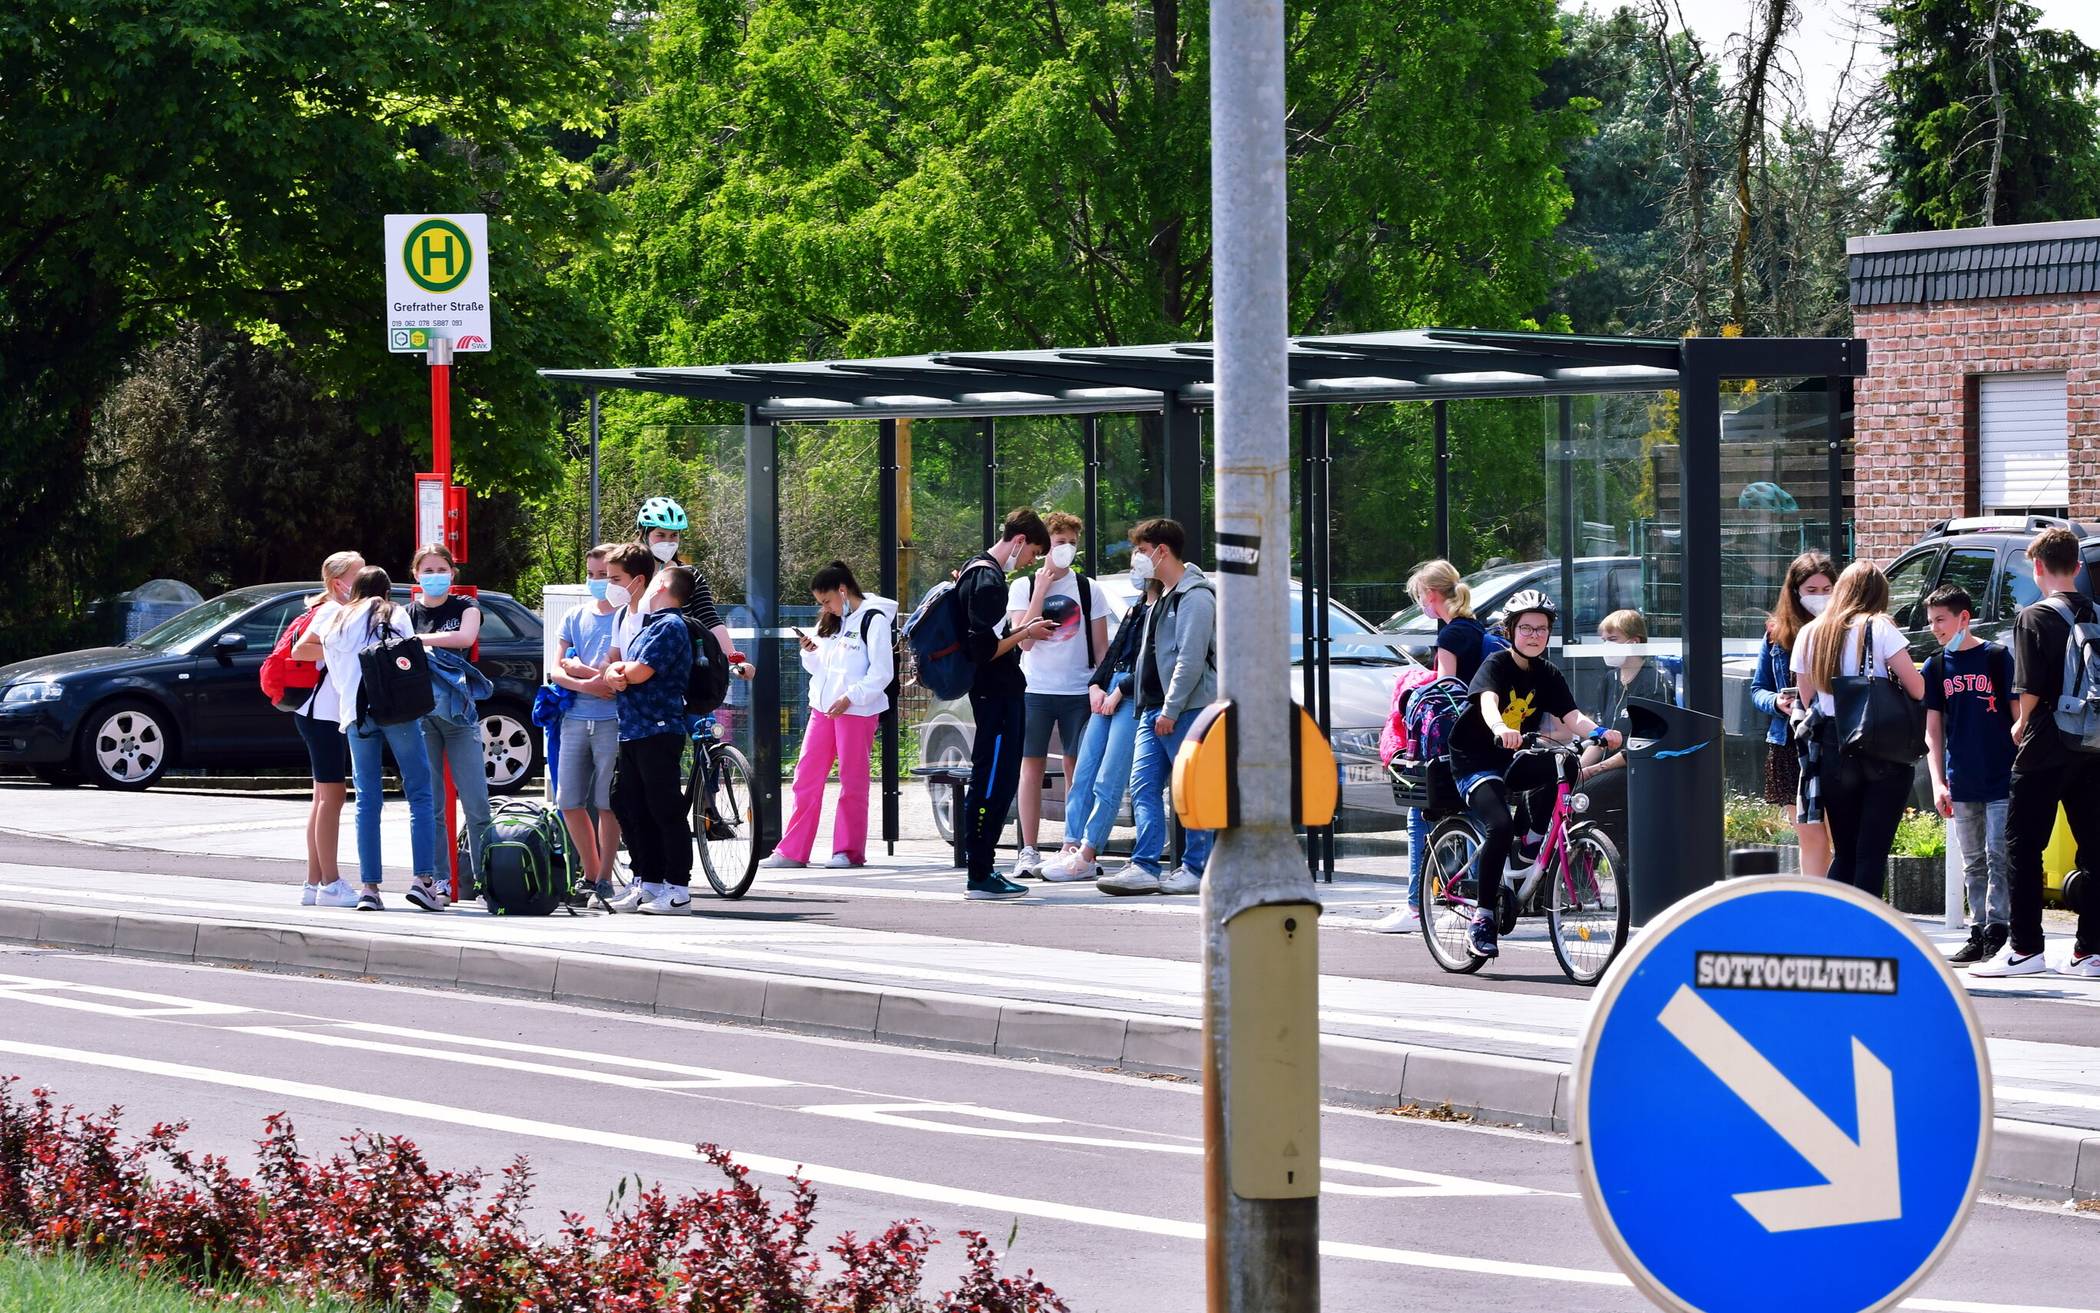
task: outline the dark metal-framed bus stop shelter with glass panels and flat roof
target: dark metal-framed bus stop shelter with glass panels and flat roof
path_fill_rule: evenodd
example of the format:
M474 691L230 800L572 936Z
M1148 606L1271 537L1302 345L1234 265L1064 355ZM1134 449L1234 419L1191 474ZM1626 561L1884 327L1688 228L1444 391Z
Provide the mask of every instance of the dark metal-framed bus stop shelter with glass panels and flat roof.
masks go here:
M1741 651L1749 634L1730 637L1747 624L1747 601L1762 582L1730 582L1724 559L1735 557L1730 534L1741 519L1724 498L1724 452L1749 473L1785 468L1802 498L1781 494L1796 513L1785 525L1800 546L1821 546L1844 555L1846 479L1852 380L1867 372L1867 347L1858 338L1604 338L1535 332L1399 330L1338 336L1302 336L1289 342L1289 403L1298 416L1296 487L1298 519L1296 574L1302 580L1304 702L1321 727L1334 733L1331 670L1334 634L1327 601L1338 588L1334 561L1336 452L1331 433L1338 416L1363 414L1380 405L1426 405L1432 443L1430 506L1392 506L1394 517L1428 515L1436 555L1451 555L1453 498L1451 464L1455 443L1451 405L1476 399L1537 399L1546 431L1546 481L1539 508L1558 538L1560 597L1577 592L1577 563L1594 546L1600 527L1586 508L1604 500L1590 494L1583 452L1596 433L1579 433L1577 403L1594 405L1611 397L1661 399L1648 403L1642 420L1651 433L1619 441L1640 466L1640 498L1651 508L1632 525L1628 550L1640 555L1653 580L1646 597L1667 597L1674 607L1676 649L1682 653L1680 700L1699 712L1724 712L1724 658ZM750 754L756 773L758 847L771 851L781 832L781 742L792 733L783 716L781 672L788 664L792 630L783 628L781 595L781 426L872 420L878 426L878 550L880 592L901 597L907 582L899 574L903 548L899 529L901 420L964 420L976 429L981 452L979 532L974 546L991 542L1006 502L1027 496L1002 494L1000 424L1063 416L1077 426L1075 456L1084 485L1086 561L1098 563L1100 515L1096 513L1105 468L1117 433L1136 418L1157 450L1159 515L1191 527L1195 544L1210 542L1205 515L1208 441L1214 353L1210 342L1149 347L1094 347L1044 351L941 351L876 359L779 361L695 368L607 368L542 370L552 382L573 384L590 399L590 529L598 536L598 393L643 391L729 403L743 412L743 553L746 605L760 637L758 674L750 689ZM1747 380L1747 382L1745 382ZM1783 389L1758 389L1758 380L1785 380ZM1657 412L1661 410L1661 418ZM1670 414L1674 412L1674 414ZM1588 412L1586 412L1588 414ZM1594 412L1602 414L1602 412ZM1115 429L1115 420L1124 429ZM1667 439L1667 441L1661 441ZM1726 441L1724 441L1726 439ZM1674 450L1663 450L1674 447ZM1743 471L1728 475L1745 483ZM1674 477L1672 477L1674 475ZM1346 471L1344 471L1346 477ZM1821 481L1821 487L1814 483ZM1588 498L1588 500L1586 500ZM1674 502L1672 510L1657 506ZM1749 492L1737 504L1749 504ZM1812 513L1821 506L1821 517ZM1751 513L1745 513L1751 515ZM1770 519L1760 508L1754 519ZM1625 538L1625 534L1619 534ZM1770 536L1766 536L1770 538ZM1197 559L1205 559L1201 550ZM1791 550L1783 553L1791 555ZM958 561L960 563L960 561ZM947 563L943 563L943 569ZM1730 601L1730 588L1735 599ZM909 601L907 601L909 607ZM1562 605L1564 651L1581 643L1577 607ZM899 712L882 723L882 834L899 838ZM1686 853L1709 851L1720 859L1720 834L1686 836ZM1331 874L1334 834L1315 834L1308 859Z

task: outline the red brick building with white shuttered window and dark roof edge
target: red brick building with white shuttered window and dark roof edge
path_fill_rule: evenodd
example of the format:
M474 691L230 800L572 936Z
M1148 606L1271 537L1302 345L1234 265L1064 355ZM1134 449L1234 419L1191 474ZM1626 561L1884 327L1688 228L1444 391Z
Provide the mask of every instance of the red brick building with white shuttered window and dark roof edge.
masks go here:
M1852 237L1856 553L1949 515L2100 521L2100 218Z

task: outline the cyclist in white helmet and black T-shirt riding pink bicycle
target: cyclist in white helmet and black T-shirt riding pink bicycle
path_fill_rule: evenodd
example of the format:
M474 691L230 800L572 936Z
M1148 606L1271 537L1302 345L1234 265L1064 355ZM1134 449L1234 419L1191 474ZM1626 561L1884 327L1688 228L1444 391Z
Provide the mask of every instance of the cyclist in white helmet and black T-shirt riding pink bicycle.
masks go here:
M1546 660L1558 616L1554 601L1537 588L1525 588L1504 605L1502 630L1510 647L1480 662L1468 689L1472 706L1451 727L1451 775L1485 836L1476 863L1478 908L1466 933L1466 943L1478 958L1497 954L1495 910L1502 903L1502 872L1516 838L1512 803L1522 805L1527 821L1544 819L1550 807L1544 794L1558 784L1556 760L1516 756L1525 735L1537 733L1554 716L1562 727L1596 737L1606 748L1621 744L1617 731L1600 729L1575 706L1569 681Z

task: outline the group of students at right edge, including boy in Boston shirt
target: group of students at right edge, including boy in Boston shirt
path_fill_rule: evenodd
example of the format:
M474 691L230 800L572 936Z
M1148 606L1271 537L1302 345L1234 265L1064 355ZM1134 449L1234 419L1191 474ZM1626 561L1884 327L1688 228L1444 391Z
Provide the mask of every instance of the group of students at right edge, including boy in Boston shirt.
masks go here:
M1888 576L1871 561L1838 571L1829 557L1806 553L1787 569L1751 685L1770 716L1764 796L1789 809L1802 870L1873 897L1915 763L1861 746L1840 723L1838 681L1886 679L1924 706L1934 807L1955 826L1968 895L1970 935L1951 960L1982 977L2050 971L2041 863L2058 809L2081 863L2100 853L2100 752L2056 725L2073 624L2100 613L2079 592L2071 529L2043 529L2026 559L2039 599L2014 620L2012 649L1980 641L1976 601L1945 584L1924 599L1940 651L1919 668L1888 613ZM2058 971L2100 977L2100 899L2079 908L2073 954Z

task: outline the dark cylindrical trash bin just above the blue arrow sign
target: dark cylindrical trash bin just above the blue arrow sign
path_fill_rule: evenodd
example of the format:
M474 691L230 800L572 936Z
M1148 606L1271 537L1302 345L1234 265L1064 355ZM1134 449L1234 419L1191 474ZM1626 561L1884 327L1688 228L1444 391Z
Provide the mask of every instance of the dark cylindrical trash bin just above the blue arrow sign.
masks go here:
M1722 721L1667 702L1625 704L1625 893L1648 924L1726 872L1722 863Z

